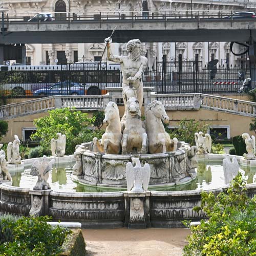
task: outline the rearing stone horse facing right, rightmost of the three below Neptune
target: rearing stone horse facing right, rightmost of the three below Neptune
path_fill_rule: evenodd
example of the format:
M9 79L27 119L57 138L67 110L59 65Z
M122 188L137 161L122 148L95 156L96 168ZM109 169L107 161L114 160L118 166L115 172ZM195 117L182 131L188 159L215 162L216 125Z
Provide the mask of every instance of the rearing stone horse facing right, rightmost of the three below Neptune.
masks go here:
M163 104L158 100L154 100L148 104L145 117L150 153L156 154L175 151L178 140L176 138L173 140L170 139L162 123L169 123L169 117L164 110Z

